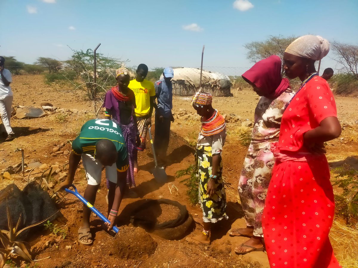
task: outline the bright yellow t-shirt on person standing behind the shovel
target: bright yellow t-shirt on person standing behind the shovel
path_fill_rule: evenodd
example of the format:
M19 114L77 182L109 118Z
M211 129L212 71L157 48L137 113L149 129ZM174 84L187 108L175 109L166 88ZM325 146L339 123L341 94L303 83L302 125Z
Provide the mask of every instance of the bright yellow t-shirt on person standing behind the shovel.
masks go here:
M133 90L135 95L136 108L134 109L136 116L145 116L149 114L150 110L150 97L155 96L154 84L151 81L145 80L138 82L133 79L129 82L128 86Z

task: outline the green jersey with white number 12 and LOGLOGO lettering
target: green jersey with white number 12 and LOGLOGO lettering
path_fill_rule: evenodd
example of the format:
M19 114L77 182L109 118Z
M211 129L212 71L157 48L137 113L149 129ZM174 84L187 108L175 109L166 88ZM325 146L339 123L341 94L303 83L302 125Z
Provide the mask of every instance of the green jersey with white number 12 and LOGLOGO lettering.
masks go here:
M81 155L95 155L99 140L111 140L116 146L117 171L125 172L129 167L128 153L120 126L108 119L89 120L81 128L78 137L72 142L72 152Z

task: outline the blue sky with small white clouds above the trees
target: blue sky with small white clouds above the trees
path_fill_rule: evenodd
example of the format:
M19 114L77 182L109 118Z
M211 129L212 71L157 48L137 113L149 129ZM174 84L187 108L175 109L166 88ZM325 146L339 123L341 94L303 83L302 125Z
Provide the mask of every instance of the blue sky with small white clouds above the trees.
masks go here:
M241 10L240 10L241 9ZM1 0L0 55L66 60L71 48L128 66L250 67L245 43L321 35L358 44L358 0ZM330 52L322 66L333 67ZM333 66L334 65L334 66Z

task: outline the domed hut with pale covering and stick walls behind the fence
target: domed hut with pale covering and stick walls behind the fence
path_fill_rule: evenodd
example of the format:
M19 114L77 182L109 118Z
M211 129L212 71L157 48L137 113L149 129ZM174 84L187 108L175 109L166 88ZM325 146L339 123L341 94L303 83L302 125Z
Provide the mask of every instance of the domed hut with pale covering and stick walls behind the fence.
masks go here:
M173 95L193 96L199 89L200 69L175 68L173 82ZM163 77L163 75L161 76ZM202 74L202 91L211 93L213 96L228 97L231 95L231 81L228 76L211 71Z

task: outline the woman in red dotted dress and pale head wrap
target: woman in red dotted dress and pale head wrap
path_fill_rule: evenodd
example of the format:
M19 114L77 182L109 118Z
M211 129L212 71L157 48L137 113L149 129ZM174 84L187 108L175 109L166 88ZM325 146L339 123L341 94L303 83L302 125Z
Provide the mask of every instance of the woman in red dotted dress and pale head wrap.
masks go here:
M340 267L328 238L334 198L323 143L339 137L341 126L332 91L314 66L328 51L327 40L305 35L284 54L286 75L302 84L271 145L276 162L262 218L271 267Z

